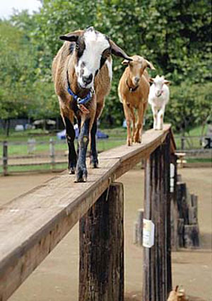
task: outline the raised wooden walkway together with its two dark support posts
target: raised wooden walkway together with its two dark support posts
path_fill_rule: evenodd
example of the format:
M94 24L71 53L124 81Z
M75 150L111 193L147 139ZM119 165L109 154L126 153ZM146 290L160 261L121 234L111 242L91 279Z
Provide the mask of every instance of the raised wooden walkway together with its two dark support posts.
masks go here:
M142 144L100 154L87 183L66 172L0 208L0 300L5 301L80 222L80 301L124 300L124 188L117 178L146 160L144 217L155 224L144 247L143 300L165 301L172 286L170 249L170 125L148 130ZM106 264L107 263L107 264ZM138 288L138 290L141 288Z

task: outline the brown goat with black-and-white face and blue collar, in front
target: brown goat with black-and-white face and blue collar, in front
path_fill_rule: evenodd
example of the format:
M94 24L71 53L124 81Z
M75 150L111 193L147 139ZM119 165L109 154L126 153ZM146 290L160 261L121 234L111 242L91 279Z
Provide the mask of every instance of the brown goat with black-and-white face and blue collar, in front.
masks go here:
M61 117L66 127L69 146L69 173L76 182L87 181L86 151L90 137L90 159L98 167L95 143L97 120L104 106L105 96L110 91L112 58L116 55L131 60L106 35L94 30L77 30L61 35L65 40L52 64L54 88L59 98ZM78 159L74 147L75 131L73 118L78 121Z

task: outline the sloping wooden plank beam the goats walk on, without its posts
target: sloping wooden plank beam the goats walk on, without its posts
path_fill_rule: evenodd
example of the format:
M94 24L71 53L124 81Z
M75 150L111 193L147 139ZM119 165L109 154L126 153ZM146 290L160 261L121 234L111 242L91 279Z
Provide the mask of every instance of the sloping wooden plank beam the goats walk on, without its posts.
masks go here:
M148 130L141 144L100 154L100 168L88 169L87 183L73 183L73 176L64 172L1 207L0 300L7 300L23 283L114 178L148 157L167 134L175 152L170 125L161 131Z

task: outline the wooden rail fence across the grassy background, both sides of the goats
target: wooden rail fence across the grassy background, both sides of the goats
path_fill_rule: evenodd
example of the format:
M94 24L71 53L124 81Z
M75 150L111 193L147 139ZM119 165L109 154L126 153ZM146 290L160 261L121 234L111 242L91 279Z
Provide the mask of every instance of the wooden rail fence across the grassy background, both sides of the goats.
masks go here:
M204 136L175 137L178 152L188 158L211 158L212 144ZM100 152L125 143L125 139L97 140ZM59 171L68 162L66 140L0 142L0 174L23 171Z

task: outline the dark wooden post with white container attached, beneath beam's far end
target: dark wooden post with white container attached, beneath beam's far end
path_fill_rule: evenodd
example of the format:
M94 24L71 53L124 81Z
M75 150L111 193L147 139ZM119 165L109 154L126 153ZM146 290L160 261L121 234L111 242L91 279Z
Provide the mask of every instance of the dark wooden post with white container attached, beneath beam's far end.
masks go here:
M172 288L169 135L146 160L144 218L155 224L155 243L143 251L143 300L166 301Z

